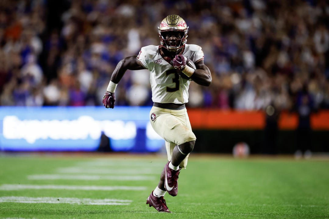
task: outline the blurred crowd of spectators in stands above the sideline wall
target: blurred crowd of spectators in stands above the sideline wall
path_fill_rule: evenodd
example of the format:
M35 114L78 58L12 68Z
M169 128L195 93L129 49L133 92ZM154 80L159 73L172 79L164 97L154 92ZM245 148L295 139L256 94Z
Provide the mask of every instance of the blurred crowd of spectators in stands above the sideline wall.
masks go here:
M159 45L169 14L212 72L210 87L191 82L189 107L329 108L325 0L2 0L0 104L102 105L116 64ZM152 105L147 70L126 72L116 105Z

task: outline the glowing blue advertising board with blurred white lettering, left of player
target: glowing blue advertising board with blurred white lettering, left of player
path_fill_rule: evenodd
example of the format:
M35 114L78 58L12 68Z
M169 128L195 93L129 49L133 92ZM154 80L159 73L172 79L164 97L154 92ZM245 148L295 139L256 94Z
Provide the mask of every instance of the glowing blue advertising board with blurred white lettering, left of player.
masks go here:
M101 134L113 151L154 152L151 107L0 107L0 150L94 151Z

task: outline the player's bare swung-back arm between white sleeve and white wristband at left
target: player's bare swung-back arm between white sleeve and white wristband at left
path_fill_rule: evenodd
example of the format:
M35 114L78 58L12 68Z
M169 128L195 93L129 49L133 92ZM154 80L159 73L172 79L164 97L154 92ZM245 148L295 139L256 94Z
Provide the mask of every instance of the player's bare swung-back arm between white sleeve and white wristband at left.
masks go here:
M119 63L116 65L116 68L114 69L112 76L111 76L111 81L114 83L119 83L121 80L122 76L127 70L141 70L145 69L141 62L137 59L137 55L133 55L130 57L126 57L119 61Z

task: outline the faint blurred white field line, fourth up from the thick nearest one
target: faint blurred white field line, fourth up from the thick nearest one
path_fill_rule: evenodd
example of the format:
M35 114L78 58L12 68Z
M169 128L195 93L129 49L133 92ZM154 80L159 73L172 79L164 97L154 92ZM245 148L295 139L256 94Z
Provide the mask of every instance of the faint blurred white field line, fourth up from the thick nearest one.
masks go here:
M84 168L84 167L64 167L58 168L59 173L91 173L91 174L159 174L152 168L129 168L129 169L110 169L110 168Z

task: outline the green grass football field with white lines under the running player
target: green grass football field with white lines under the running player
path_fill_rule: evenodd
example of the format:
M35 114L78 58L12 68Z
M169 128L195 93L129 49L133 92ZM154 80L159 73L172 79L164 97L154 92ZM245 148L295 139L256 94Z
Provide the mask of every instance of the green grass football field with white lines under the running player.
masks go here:
M329 218L329 161L192 154L166 194L146 205L162 155L0 155L0 218Z

